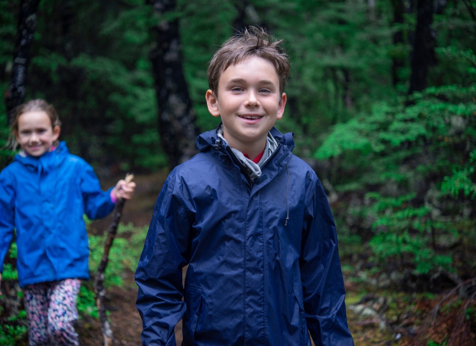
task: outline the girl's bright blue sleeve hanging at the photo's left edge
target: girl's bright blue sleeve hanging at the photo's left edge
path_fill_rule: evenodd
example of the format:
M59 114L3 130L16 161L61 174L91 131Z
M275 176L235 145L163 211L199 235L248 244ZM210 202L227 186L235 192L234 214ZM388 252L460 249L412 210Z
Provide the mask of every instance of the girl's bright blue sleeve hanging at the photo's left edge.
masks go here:
M0 273L15 229L15 188L6 170L0 172Z

